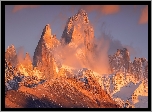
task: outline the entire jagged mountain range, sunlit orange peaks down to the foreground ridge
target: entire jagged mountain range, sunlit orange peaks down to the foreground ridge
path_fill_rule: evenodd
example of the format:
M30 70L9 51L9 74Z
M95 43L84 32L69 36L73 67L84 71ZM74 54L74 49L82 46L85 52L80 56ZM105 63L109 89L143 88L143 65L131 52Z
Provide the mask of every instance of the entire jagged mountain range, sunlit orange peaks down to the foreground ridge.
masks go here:
M33 59L29 53L21 59L9 46L5 107L147 108L148 60L135 57L131 62L127 48L118 48L106 54L105 70L99 60L105 54L99 55L98 46L83 9L68 18L60 40L45 25Z

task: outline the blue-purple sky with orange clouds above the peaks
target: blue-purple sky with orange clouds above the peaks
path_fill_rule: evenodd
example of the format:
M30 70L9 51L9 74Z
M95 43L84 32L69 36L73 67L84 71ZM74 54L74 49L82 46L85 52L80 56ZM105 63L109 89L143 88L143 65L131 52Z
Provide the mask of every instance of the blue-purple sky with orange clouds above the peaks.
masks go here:
M118 44L128 46L131 59L148 58L148 8L145 5L116 6L5 6L5 50L11 44L24 48L33 57L43 28L50 24L52 34L60 39L67 19L83 8L94 27L95 38L102 33Z

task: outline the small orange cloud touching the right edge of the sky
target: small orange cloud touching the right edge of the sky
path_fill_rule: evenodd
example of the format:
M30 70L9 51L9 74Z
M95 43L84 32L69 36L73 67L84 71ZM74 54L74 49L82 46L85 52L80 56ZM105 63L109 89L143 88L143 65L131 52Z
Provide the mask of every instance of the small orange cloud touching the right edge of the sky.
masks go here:
M140 15L140 19L139 19L139 24L146 24L148 23L148 6L145 6L142 10L141 10L141 15Z

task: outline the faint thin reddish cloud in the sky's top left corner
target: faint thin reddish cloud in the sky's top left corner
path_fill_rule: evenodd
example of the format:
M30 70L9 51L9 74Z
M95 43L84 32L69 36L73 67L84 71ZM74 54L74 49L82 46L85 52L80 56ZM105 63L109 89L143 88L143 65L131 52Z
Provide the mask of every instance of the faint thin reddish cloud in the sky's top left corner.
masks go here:
M12 12L15 13L15 12L20 11L22 9L37 8L37 7L39 7L39 5L15 5Z

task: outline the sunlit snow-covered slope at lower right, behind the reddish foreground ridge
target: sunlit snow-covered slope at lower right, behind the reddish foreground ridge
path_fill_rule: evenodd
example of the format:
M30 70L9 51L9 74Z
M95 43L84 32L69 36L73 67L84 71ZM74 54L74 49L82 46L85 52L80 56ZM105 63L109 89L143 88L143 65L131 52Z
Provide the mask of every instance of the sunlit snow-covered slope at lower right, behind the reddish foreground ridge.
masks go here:
M70 67L67 67L71 71ZM74 70L74 68L72 68ZM80 81L85 83L85 72L87 68L82 68L77 70L75 77ZM94 79L100 84L103 90L105 90L119 105L123 106L128 100L128 103L132 107L137 108L140 104L143 104L143 101L140 100L139 96L144 98L143 100L147 101L148 97L148 86L143 85L143 81L132 82L135 78L127 77L125 79L123 74L105 74L100 75L99 73L92 72ZM146 108L148 105L142 105L141 107ZM129 108L129 107L128 107Z

